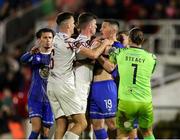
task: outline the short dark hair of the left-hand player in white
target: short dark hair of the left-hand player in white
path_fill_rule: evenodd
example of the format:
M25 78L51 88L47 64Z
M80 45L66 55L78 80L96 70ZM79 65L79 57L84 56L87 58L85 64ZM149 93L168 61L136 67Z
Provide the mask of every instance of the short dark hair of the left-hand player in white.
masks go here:
M71 17L74 17L73 13L70 13L70 12L61 12L57 16L56 23L57 23L57 25L60 25L63 21L68 20Z

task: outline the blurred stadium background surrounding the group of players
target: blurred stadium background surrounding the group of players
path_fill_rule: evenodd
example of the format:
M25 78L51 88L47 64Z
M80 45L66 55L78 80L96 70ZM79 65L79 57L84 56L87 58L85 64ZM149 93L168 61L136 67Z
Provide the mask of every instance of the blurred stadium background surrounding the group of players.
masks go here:
M31 70L21 65L19 58L33 46L37 29L48 26L57 31L55 18L61 11L76 16L83 11L92 12L99 18L99 25L101 19L114 18L119 21L120 30L141 26L147 38L145 46L162 60L158 68L163 72L157 72L152 81L153 94L178 93L171 89L176 85L178 88L180 79L179 0L0 0L0 138L26 138ZM169 77L164 78L166 75ZM166 89L164 85L172 82L176 85ZM174 96L164 100L155 95L156 138L180 138L180 105L179 101L176 104L177 94ZM168 105L170 99L174 104ZM164 115L156 112L174 115L161 120Z

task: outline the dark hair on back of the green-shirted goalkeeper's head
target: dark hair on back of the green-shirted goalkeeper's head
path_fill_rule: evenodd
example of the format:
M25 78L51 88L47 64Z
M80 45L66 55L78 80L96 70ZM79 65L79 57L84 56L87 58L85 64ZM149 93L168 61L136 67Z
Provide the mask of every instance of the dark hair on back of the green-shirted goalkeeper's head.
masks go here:
M131 39L133 43L137 45L141 45L144 41L143 31L138 27L132 28L129 31L129 38Z

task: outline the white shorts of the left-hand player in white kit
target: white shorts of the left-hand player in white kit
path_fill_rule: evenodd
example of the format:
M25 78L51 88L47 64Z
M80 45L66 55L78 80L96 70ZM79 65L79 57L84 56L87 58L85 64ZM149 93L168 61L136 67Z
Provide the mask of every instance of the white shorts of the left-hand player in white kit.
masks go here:
M75 86L72 80L48 81L47 95L55 119L64 115L70 116L83 113L83 106L75 92Z

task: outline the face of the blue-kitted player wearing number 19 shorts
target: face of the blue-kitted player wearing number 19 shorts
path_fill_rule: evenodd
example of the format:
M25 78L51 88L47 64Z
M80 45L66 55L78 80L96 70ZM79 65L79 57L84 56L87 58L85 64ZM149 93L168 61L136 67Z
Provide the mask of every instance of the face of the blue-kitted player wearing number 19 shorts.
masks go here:
M101 29L100 29L102 35L104 38L109 38L110 37L110 33L111 33L111 29L110 29L110 25L108 22L103 22L101 25Z

